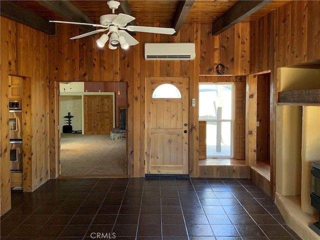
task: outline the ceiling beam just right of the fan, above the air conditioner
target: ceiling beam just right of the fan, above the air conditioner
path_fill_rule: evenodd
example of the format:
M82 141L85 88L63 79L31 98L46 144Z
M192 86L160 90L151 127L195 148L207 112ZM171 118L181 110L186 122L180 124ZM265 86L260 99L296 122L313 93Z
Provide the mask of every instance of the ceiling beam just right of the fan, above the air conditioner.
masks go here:
M187 17L194 0L184 0L178 1L178 5L175 10L175 14L172 20L172 28L174 28L175 33L173 35L178 34L185 18Z

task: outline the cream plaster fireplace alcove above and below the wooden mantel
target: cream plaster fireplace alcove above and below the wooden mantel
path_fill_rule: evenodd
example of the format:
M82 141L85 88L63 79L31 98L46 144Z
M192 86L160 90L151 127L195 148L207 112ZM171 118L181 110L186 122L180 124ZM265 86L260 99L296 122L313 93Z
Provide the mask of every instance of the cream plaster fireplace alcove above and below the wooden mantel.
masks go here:
M278 91L320 88L320 69L278 70ZM309 228L318 220L310 204L310 163L320 160L320 105L278 102L276 105L275 203L287 224L303 239L318 239Z

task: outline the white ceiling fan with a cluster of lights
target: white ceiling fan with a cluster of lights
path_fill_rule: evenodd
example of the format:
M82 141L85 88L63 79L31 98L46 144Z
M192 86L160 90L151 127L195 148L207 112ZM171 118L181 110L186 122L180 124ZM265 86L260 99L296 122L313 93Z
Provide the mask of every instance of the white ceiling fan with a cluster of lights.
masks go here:
M104 44L109 40L108 47L110 49L116 49L118 45L120 45L122 49L127 49L129 46L133 46L139 43L127 31L140 31L140 32L160 33L160 34L173 34L175 32L174 28L166 28L166 27L136 26L136 25L126 26L126 24L134 20L135 17L127 14L123 14L123 13L115 14L114 10L117 9L118 6L120 5L119 1L109 0L107 1L107 4L109 8L112 9L112 14L101 15L100 24L72 22L72 21L55 21L55 20L50 20L50 22L102 27L94 31L89 31L77 36L73 36L70 39L78 39L81 37L93 35L95 33L108 30L107 33L103 33L96 40L96 43L98 44L99 47L103 47Z

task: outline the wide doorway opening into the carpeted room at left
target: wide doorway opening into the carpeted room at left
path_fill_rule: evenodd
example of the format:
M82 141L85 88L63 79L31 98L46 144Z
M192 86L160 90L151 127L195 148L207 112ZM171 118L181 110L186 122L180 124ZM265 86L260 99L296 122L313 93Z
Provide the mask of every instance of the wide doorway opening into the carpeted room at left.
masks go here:
M59 177L126 176L126 129L121 129L121 138L111 137L121 128L126 86L126 82L59 83Z

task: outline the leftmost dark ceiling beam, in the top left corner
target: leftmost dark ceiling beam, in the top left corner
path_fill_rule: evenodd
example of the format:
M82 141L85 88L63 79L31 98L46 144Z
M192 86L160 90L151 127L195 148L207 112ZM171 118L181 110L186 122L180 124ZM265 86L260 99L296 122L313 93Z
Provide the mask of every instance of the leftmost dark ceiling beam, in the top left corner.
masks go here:
M12 1L0 1L0 11L1 16L43 31L50 35L55 35L54 23L49 22L47 19Z

